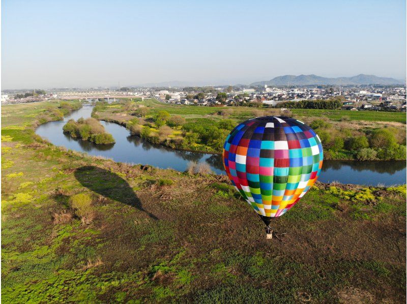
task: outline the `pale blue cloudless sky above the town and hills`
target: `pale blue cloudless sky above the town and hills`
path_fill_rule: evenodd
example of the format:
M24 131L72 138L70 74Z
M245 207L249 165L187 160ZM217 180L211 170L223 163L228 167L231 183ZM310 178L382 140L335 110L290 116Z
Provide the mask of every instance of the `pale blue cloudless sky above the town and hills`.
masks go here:
M2 89L405 79L405 1L2 1Z

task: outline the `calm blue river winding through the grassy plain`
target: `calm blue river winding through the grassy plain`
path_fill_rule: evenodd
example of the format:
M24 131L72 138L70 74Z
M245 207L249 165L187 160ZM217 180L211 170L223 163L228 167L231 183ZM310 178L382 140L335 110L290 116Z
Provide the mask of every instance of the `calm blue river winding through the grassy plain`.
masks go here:
M96 145L92 142L73 139L63 133L63 126L68 119L90 117L93 106L85 104L81 109L66 116L63 121L50 121L39 126L36 133L57 146L85 152L93 156L103 156L115 162L131 164L149 164L158 168L172 168L185 171L189 162L206 162L217 174L224 174L220 155L174 150L162 145L152 144L131 136L120 125L101 121L106 131L116 140L112 145ZM339 181L342 184L359 184L385 186L405 184L406 165L404 161L324 161L318 180L324 183Z

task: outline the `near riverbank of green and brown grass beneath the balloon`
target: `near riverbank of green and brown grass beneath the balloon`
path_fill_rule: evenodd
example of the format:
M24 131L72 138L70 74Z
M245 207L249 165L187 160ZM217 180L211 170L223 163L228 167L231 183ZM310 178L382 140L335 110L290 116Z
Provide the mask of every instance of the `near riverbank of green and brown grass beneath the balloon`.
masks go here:
M224 176L43 142L48 106L2 108L5 303L405 301L405 186L317 184L266 240Z

